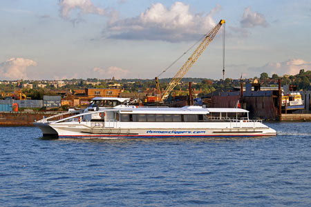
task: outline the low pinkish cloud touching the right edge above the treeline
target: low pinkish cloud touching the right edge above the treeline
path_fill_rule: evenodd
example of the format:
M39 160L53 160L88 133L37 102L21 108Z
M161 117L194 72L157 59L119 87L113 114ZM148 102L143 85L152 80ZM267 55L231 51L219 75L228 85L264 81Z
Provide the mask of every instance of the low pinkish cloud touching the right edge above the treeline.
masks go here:
M261 72L267 72L269 75L277 74L281 75L296 75L299 70L311 69L311 62L303 59L289 59L288 61L267 63L265 66L258 68L249 68L249 70L256 71L258 74Z

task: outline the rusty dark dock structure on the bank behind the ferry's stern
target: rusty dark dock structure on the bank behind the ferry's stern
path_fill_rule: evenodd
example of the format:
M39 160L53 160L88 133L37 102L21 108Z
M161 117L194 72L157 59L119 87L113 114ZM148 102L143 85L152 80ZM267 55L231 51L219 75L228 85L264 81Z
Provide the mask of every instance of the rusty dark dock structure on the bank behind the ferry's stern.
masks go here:
M284 87L286 88L286 87ZM263 89L263 90L261 90ZM285 89L286 90L286 89ZM220 108L236 107L249 110L252 119L265 119L271 121L310 121L311 117L311 91L301 92L305 108L295 112L281 108L283 88L261 88L259 83L246 83L238 91L222 92L211 97L211 106Z

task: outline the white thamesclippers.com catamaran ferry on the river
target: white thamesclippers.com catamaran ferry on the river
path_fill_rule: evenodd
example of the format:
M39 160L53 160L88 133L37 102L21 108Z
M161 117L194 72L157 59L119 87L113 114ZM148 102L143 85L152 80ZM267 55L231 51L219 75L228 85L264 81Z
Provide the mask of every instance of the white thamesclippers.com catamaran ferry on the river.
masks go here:
M55 118L55 117L54 117ZM251 137L276 130L249 119L241 108L138 107L119 105L84 110L70 117L35 122L44 136L59 138Z

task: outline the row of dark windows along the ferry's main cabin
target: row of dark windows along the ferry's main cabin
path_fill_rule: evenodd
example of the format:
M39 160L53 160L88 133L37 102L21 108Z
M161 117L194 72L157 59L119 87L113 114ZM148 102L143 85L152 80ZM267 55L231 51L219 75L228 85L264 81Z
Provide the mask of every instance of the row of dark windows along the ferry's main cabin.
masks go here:
M135 122L198 122L214 121L207 115L121 114L120 121Z

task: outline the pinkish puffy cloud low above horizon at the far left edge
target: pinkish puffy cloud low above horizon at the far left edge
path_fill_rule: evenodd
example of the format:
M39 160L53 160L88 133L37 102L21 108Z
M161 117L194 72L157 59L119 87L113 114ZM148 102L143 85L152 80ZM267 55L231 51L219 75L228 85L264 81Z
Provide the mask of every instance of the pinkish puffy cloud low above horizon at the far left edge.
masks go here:
M1 79L28 79L26 70L29 66L37 66L37 62L19 57L8 59L0 63Z

